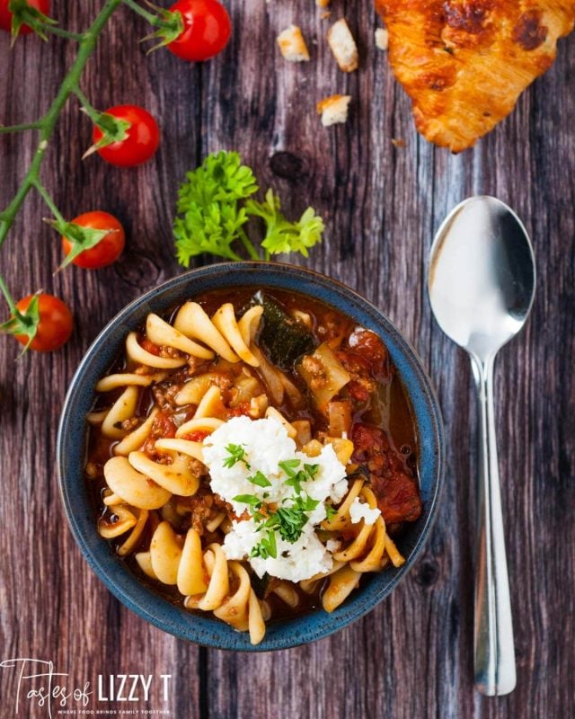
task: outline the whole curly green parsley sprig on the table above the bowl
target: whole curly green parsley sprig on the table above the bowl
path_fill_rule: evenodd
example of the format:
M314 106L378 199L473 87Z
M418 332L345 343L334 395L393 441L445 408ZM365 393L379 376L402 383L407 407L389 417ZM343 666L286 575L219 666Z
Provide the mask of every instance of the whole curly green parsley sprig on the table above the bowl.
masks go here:
M208 155L196 170L187 173L173 221L178 262L189 267L191 258L202 253L242 260L238 252L242 245L252 260L259 260L260 254L244 229L250 217L260 217L265 226L261 247L266 260L291 252L307 257L309 248L322 239L322 218L307 208L299 220L291 222L272 190L266 192L263 202L253 200L258 190L252 169L242 164L236 152Z

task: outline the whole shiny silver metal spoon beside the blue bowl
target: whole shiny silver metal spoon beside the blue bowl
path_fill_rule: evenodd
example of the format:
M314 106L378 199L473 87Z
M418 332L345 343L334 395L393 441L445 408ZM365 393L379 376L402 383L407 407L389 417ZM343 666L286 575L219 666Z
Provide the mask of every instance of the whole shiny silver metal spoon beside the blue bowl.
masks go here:
M429 299L441 329L471 357L481 406L475 568L475 688L489 697L516 684L509 579L493 408L493 362L525 324L535 258L525 227L500 200L457 205L431 247Z

